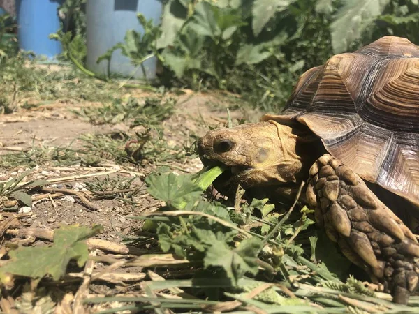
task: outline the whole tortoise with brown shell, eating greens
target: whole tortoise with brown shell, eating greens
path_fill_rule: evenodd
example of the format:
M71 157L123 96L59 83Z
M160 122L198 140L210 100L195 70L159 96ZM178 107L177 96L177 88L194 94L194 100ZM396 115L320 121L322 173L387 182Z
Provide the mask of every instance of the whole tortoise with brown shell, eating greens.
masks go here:
M304 201L342 253L393 301L406 304L416 290L419 47L406 38L385 36L307 70L281 114L211 130L198 154L228 168L214 182L226 195L237 184L292 195L307 181Z

